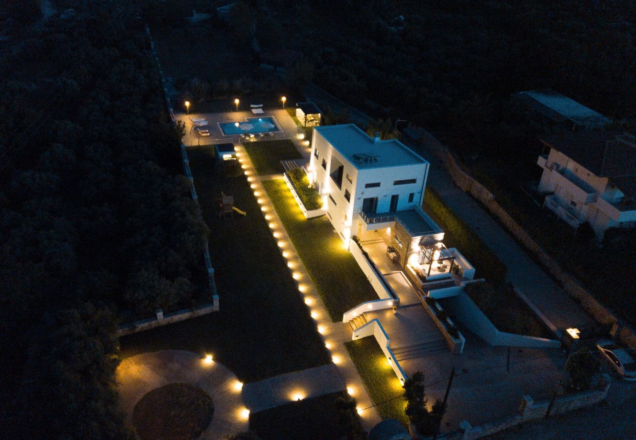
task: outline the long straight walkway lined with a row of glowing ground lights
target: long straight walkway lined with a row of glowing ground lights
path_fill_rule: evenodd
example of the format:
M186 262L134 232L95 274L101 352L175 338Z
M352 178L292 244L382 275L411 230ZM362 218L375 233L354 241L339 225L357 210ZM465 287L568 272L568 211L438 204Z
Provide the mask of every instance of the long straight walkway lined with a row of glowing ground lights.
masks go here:
M263 188L261 184L261 180L271 180L272 177L279 177L279 175L256 175L256 171L254 167L252 167L252 163L245 149L242 146L235 146L235 149L237 150L237 156L239 157L244 173L247 176L247 181L250 183L252 191L254 191L256 200L258 200L261 205L265 220L269 223L272 235L278 241L280 252L282 252L282 256L287 259L287 266L289 266L294 280L298 282L298 291L300 291L305 298L305 304L308 308L307 312L310 313L314 319L318 333L322 335L325 346L331 352L333 363L338 367L337 371L340 373L347 391L357 400L358 412L361 416L364 429L370 430L382 419L373 406L373 402L366 392L366 388L364 388L356 366L351 361L349 353L344 347L344 343L351 340L351 328L349 324L345 324L344 322L331 322L331 319L329 319L329 314L315 289L314 283L309 277L303 262L298 257L294 245L291 244L287 231L282 225L265 188ZM301 384L299 383L298 386L300 387ZM290 397L289 401L291 400L293 399Z

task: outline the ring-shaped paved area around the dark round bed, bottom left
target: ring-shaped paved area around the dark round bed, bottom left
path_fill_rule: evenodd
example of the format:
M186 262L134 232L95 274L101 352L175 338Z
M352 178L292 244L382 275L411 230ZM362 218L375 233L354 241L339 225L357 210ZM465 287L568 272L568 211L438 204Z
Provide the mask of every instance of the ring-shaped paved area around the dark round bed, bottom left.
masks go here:
M223 439L248 430L245 406L237 378L214 361L205 364L196 353L162 350L129 357L117 368L121 409L132 426L132 410L150 390L168 383L185 382L202 388L212 397L214 416L201 439Z

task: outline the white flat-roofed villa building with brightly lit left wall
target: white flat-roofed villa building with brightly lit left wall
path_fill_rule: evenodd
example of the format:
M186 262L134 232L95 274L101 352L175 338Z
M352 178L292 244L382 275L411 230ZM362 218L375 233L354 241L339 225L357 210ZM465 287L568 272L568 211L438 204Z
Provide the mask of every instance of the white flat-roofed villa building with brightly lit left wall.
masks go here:
M429 163L395 139L373 139L354 124L315 127L308 172L346 245L366 231L390 234L396 222L411 238L443 238L421 209ZM410 248L403 241L401 256Z

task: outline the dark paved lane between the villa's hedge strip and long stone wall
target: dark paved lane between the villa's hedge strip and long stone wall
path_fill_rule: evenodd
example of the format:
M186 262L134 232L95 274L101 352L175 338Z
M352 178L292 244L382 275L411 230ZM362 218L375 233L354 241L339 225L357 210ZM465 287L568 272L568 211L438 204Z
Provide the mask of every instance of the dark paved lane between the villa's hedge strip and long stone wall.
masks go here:
M583 308L553 282L488 212L455 186L443 163L434 155L434 146L429 143L423 149L411 147L431 163L427 185L439 193L444 203L462 217L508 267L506 278L509 282L522 291L560 332L568 327L595 331L597 324ZM476 275L480 277L479 273Z

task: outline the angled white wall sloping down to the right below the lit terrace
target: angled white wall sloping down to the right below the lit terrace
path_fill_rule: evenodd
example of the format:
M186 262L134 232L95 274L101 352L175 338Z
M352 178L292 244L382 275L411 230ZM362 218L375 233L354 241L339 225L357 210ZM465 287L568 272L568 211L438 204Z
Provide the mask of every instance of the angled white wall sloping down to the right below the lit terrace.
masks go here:
M460 292L453 298L447 298L445 302L446 308L457 320L489 345L529 348L561 347L561 342L557 340L499 331L466 292Z

